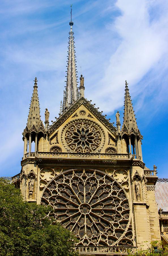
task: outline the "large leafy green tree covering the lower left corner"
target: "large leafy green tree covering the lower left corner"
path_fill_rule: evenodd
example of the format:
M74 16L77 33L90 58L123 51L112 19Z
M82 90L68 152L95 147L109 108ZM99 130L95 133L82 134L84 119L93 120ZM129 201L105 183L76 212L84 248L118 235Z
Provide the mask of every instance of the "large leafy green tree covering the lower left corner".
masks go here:
M0 178L0 255L78 255L73 234L46 217L51 210L24 202L20 189Z

